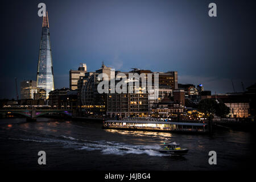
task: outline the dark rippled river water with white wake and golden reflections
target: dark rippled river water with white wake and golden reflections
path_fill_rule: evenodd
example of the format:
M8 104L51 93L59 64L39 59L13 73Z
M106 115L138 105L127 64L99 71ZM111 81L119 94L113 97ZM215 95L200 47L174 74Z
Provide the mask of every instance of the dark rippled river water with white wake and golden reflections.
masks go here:
M183 157L164 155L162 142L189 148ZM209 135L103 130L101 123L38 118L0 119L0 163L10 170L232 170L255 161L254 135L218 130ZM38 152L46 152L46 165ZM209 151L217 165L209 165Z

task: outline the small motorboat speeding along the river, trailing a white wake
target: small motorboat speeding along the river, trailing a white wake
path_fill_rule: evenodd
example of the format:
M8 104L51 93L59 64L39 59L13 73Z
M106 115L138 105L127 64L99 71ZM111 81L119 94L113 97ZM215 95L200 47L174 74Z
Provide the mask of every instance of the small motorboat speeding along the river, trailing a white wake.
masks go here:
M180 144L176 142L163 143L163 147L159 150L161 153L167 153L172 155L185 155L188 152L188 148L180 148Z

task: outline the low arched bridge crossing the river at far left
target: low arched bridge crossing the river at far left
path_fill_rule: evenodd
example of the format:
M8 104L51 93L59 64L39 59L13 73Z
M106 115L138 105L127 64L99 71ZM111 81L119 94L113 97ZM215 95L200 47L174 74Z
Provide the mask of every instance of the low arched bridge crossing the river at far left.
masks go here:
M20 114L29 119L36 119L44 114L61 113L72 116L72 110L55 109L51 106L6 106L0 110L0 114Z

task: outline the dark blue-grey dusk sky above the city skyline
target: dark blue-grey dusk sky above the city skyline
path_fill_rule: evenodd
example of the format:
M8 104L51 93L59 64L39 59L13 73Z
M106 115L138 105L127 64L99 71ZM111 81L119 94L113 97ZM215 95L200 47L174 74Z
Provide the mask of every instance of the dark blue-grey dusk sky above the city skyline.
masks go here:
M212 94L256 82L254 1L8 1L1 2L1 93L15 98L15 80L36 80L46 3L55 88L69 87L69 69L105 65L177 71L179 83ZM217 17L208 5L217 5Z

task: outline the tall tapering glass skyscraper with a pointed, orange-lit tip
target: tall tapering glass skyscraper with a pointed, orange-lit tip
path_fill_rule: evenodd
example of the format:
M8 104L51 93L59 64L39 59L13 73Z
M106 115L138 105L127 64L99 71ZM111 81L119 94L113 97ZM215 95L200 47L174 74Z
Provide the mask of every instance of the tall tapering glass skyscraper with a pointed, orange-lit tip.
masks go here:
M36 76L36 86L46 90L46 98L49 92L54 90L52 50L49 38L48 13L43 16L42 37L38 59L38 72Z

